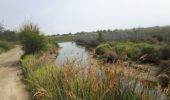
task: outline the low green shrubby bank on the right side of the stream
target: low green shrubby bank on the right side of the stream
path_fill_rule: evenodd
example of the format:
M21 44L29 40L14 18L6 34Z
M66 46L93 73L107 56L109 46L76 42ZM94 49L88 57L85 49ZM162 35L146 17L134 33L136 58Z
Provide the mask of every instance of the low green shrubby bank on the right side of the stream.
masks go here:
M106 42L96 47L95 54L105 62L133 60L144 63L159 63L170 59L170 46L159 43Z

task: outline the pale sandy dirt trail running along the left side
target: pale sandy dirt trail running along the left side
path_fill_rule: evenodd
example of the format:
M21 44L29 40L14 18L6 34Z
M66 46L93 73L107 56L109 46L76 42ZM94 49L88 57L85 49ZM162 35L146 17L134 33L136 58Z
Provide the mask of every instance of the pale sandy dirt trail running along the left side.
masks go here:
M20 46L0 54L0 100L30 100L18 64L22 54Z

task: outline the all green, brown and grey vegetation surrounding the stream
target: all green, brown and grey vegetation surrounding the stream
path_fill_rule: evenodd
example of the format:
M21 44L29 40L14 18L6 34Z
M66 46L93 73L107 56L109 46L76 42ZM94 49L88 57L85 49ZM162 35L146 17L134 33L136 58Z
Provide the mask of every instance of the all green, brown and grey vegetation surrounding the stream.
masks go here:
M0 53L12 48L12 42L18 42L20 39L25 51L21 68L28 90L36 100L154 100L158 97L169 99L169 89L165 93L159 92L157 83L145 83L145 80L117 69L125 67L123 62L127 60L159 63L164 67L161 67L158 76L162 78L163 85L168 85L169 26L80 32L75 35L48 37L42 35L39 27L32 23L23 25L19 35L3 27L0 27L0 30ZM88 67L82 67L74 62L66 62L62 66L55 65L53 54L57 54L56 40L96 46L95 57L105 63L114 64L93 62ZM164 75L168 78L165 79Z

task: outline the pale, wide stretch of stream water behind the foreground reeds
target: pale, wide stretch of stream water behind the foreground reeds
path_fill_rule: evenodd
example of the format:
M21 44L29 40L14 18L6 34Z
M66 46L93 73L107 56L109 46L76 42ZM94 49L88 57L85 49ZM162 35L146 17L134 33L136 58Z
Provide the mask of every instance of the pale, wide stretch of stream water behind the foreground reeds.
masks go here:
M86 66L88 64L88 51L85 47L77 45L75 42L58 43L60 50L55 63L62 65L67 61Z

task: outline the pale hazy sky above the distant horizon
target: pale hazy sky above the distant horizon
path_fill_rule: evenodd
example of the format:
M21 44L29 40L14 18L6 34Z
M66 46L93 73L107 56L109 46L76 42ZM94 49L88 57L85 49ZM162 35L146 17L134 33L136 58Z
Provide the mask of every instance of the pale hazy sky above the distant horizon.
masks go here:
M170 0L0 0L0 23L18 30L38 24L44 34L170 25Z

